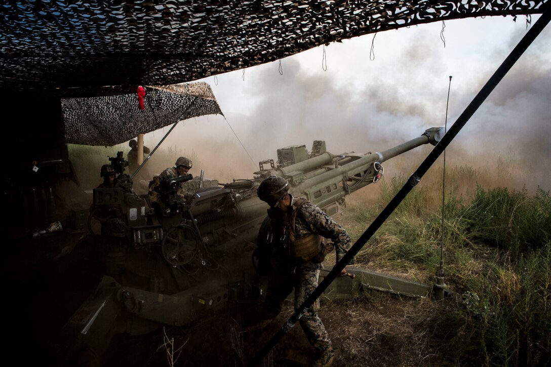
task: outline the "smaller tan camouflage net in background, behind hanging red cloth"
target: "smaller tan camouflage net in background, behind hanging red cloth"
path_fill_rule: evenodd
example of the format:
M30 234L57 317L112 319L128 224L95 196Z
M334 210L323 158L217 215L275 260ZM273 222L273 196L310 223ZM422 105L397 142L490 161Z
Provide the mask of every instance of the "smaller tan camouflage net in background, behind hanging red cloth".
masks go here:
M187 118L222 114L207 83L144 89L144 110L137 93L63 99L65 141L112 146Z

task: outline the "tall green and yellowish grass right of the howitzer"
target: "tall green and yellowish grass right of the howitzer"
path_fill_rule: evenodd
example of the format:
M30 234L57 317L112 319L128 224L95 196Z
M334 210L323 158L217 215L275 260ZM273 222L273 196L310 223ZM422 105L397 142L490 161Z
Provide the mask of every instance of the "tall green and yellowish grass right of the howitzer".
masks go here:
M380 201L343 215L353 239L406 180L381 182ZM452 365L543 366L551 360L551 196L507 188L472 197L418 185L368 241L356 261L371 269L434 283L441 252L447 287L462 296L446 315L444 342ZM453 185L450 185L453 187ZM441 192L441 188L440 188ZM442 244L444 242L444 244ZM444 317L444 316L442 316Z

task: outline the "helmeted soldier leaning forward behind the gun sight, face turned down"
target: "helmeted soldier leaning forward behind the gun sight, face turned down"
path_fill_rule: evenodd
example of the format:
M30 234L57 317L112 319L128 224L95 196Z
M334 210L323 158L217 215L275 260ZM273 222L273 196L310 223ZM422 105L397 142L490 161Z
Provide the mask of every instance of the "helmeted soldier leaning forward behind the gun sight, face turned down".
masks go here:
M181 156L176 160L173 167L169 167L159 175L155 175L153 180L149 181L149 201L152 204L162 201L165 204L170 205L170 202L174 201L174 199L182 201L191 197L193 193L185 191L182 184L183 182L192 179L192 176L187 173L191 169L192 165L193 163L191 159ZM188 176L183 177L176 187L165 187L165 185L168 185L170 180L177 179L178 177L184 175ZM165 185L162 185L163 182Z

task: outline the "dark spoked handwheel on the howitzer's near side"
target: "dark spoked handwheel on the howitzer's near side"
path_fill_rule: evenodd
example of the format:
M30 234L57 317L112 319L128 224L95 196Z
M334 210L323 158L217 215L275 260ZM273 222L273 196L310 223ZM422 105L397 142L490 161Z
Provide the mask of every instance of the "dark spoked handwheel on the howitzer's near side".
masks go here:
M199 234L195 228L185 224L169 229L161 245L163 257L174 266L200 266L201 249Z

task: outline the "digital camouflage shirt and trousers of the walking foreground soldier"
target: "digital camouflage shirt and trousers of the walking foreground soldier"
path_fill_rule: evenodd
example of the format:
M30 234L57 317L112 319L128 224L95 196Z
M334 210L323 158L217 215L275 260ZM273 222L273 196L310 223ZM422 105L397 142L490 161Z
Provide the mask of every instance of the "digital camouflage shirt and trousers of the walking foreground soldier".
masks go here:
M347 231L329 215L308 201L297 209L295 198L292 195L290 197L291 207L288 212L282 212L277 208L271 208L268 211L272 219L271 232L274 239L274 253L270 260L273 271L268 282L264 310L268 315L273 316L279 314L283 301L293 291L293 288L295 289L294 307L297 310L317 288L320 277L321 262L316 261L317 258L300 262L289 255L288 244L291 237L289 218L294 211L299 211L295 217L295 239L301 239L310 234L319 234L331 239L337 261L341 260L352 246ZM317 299L314 305L300 318L300 326L312 347L321 352L331 347L331 339L316 313L319 307L320 300Z

